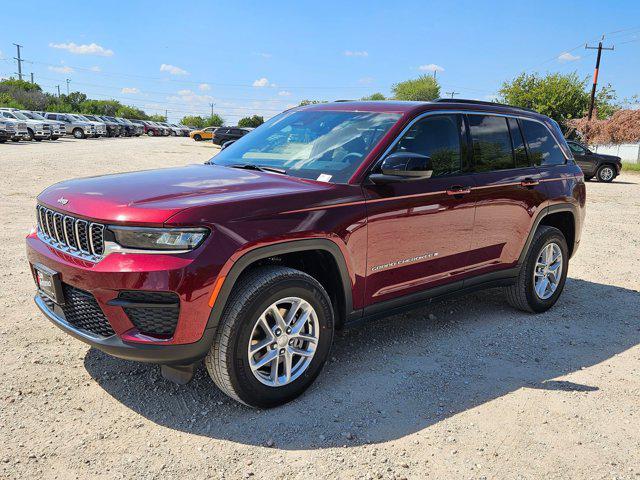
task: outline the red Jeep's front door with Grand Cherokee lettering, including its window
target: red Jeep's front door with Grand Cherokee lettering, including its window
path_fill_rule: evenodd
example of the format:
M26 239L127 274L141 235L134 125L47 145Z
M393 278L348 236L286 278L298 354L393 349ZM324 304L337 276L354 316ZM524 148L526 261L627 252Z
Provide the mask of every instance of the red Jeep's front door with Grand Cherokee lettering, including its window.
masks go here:
M368 305L453 283L468 269L475 202L462 116L423 117L393 152L429 156L433 175L364 187Z

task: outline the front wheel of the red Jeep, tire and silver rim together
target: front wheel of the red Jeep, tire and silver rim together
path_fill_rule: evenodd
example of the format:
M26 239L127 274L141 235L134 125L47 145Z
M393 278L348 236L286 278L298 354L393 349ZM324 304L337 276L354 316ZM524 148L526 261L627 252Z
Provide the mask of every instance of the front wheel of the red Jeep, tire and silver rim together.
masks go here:
M315 278L257 267L234 286L205 365L231 398L259 408L282 405L322 370L333 327L331 301Z

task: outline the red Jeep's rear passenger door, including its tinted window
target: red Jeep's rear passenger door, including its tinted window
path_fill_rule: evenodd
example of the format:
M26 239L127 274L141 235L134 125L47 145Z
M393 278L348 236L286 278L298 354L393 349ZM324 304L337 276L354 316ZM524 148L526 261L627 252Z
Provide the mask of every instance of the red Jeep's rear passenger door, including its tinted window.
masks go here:
M470 251L475 276L515 265L546 190L527 154L517 118L490 114L467 118L476 201Z

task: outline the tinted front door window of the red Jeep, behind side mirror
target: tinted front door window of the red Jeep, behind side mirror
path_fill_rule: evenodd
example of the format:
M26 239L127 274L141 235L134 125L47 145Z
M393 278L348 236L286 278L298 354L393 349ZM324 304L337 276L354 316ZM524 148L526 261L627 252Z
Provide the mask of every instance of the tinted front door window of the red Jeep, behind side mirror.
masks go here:
M400 139L394 152L431 157L432 177L462 171L464 123L460 115L429 116L416 122Z

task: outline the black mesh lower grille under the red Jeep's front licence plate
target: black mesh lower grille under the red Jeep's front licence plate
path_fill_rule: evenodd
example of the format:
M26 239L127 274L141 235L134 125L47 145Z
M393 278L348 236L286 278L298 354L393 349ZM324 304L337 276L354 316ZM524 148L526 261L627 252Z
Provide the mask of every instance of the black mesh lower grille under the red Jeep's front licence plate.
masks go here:
M66 283L62 284L62 291L64 293L64 305L54 304L42 292L39 292L39 295L49 310L74 327L102 337L115 335L116 332L114 332L93 295Z

